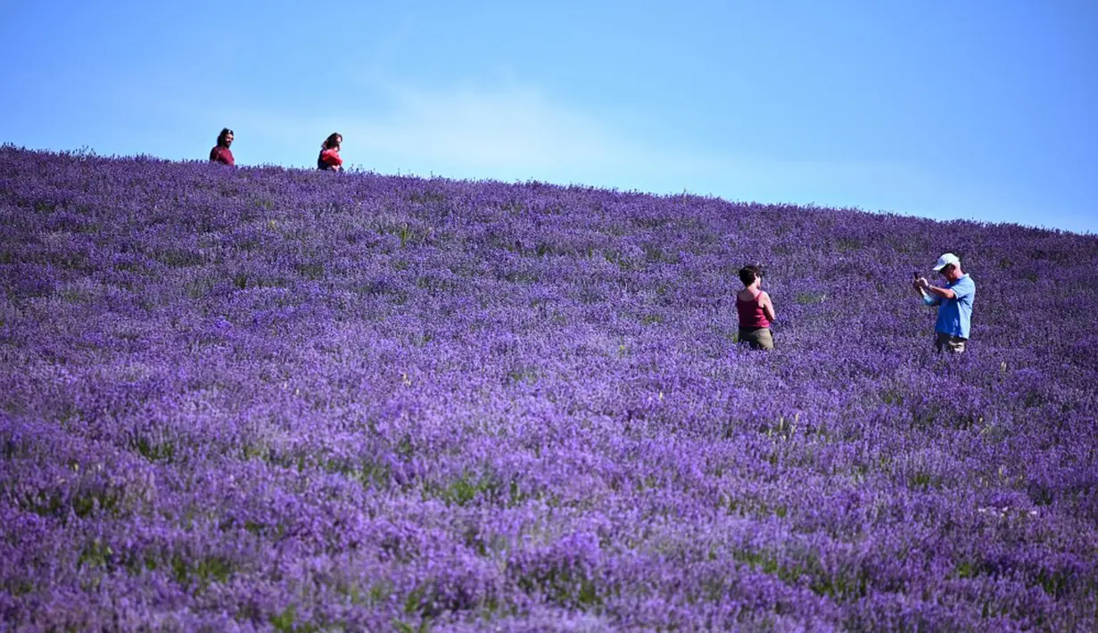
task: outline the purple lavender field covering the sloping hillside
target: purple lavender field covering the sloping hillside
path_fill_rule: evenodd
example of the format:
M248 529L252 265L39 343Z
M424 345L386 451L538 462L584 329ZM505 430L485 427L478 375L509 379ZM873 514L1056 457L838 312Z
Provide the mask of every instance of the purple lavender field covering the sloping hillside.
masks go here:
M1096 630L1096 312L1094 236L8 146L0 629Z

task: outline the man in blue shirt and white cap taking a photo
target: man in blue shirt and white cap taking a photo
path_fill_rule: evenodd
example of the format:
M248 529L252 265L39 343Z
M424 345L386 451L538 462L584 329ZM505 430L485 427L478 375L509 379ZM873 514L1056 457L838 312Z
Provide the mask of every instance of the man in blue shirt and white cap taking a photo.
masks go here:
M934 348L954 353L964 352L972 323L972 303L976 298L976 282L961 270L961 260L952 252L938 258L934 270L945 278L945 287L930 285L927 278L915 280L915 289L927 305L938 306L934 324Z

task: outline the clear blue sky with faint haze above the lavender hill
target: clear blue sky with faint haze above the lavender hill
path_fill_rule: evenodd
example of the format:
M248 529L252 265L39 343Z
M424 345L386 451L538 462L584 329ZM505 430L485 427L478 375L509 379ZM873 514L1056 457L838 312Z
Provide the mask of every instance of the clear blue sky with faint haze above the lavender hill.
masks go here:
M1098 233L1098 2L3 2L0 142Z

